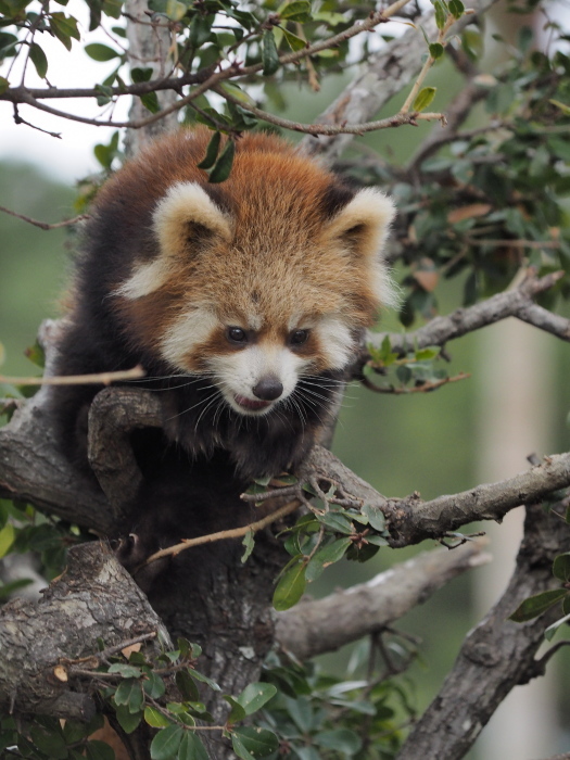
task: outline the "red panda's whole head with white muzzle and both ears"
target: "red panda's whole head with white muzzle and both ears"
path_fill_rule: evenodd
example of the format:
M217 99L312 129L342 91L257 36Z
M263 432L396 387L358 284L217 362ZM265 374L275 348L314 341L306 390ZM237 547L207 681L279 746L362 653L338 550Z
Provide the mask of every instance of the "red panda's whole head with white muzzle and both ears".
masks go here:
M174 372L211 377L241 415L267 414L301 377L344 369L393 302L381 257L392 203L267 136L238 142L221 186L179 164L147 221L153 254L135 254L116 302Z

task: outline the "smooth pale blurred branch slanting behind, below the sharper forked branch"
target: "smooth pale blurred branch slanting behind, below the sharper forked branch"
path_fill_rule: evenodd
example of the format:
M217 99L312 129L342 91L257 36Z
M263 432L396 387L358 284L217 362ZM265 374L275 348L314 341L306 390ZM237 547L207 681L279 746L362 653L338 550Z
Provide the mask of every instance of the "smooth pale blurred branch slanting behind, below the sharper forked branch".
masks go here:
M491 561L485 546L478 540L452 552L426 552L366 583L302 601L278 615L277 643L300 660L335 651L398 620L456 575Z

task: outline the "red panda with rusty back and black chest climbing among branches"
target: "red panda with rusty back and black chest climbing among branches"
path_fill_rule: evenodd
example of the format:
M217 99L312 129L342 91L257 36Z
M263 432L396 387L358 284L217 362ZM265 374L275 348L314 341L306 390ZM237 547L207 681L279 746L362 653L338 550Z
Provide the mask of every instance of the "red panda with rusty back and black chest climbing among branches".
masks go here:
M100 190L56 367L141 364L142 385L165 392L166 443L204 494L299 467L365 328L393 301L384 194L261 132L237 141L229 178L211 185L197 166L210 136L160 139ZM98 390L54 392L68 452L85 452Z

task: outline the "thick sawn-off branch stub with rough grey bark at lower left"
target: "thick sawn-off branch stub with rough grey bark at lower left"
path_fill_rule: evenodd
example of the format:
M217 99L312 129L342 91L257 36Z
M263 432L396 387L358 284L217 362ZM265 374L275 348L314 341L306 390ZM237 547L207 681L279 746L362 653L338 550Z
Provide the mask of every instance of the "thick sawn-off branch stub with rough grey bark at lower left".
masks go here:
M39 601L14 599L0 613L0 705L8 712L89 720L89 683L74 677L74 661L106 647L169 637L147 597L104 544L69 550L65 572ZM157 641L147 644L160 654ZM83 669L86 662L81 663Z

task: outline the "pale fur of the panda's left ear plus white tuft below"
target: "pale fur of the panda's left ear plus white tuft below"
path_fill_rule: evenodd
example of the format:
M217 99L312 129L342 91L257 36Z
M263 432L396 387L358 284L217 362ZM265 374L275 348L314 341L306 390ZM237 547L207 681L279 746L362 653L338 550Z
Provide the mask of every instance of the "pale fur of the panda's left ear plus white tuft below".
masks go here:
M136 267L130 277L115 290L115 294L135 300L149 295L163 286L172 274L176 258L188 253L191 232L189 226L192 223L205 227L224 240L231 239L228 217L200 185L173 185L153 214L160 255Z

